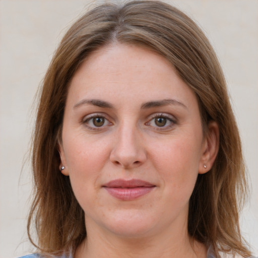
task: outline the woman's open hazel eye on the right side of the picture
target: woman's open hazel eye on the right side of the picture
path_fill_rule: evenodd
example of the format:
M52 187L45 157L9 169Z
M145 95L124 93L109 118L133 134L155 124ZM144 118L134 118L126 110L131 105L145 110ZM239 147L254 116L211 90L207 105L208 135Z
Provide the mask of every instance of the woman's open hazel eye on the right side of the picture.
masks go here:
M175 119L168 114L154 114L151 120L146 123L152 127L156 127L159 130L166 130L175 124Z

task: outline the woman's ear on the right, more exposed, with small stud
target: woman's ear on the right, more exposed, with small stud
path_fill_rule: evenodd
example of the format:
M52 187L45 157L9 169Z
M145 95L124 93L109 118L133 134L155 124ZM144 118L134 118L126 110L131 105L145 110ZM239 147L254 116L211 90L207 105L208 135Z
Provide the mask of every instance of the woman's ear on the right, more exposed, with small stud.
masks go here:
M202 156L199 163L199 174L208 172L219 151L219 126L215 121L208 124L208 132L204 136Z

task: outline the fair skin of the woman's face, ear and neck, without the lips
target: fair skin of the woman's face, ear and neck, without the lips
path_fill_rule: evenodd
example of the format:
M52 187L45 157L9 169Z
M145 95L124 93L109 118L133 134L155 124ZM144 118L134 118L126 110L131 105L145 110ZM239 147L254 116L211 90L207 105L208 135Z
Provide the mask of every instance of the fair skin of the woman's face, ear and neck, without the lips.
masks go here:
M195 93L164 57L124 44L88 56L70 85L59 146L85 212L87 239L75 257L206 257L187 234L188 202L218 137L215 122L203 135ZM155 187L123 201L103 187L114 179Z

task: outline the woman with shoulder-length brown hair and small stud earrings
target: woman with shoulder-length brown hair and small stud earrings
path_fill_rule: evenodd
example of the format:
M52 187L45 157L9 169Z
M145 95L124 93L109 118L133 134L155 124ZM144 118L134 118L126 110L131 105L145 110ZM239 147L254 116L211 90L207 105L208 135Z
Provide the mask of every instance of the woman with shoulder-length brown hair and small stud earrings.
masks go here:
M167 4L105 4L70 28L43 82L33 172L42 256L250 256L224 76Z

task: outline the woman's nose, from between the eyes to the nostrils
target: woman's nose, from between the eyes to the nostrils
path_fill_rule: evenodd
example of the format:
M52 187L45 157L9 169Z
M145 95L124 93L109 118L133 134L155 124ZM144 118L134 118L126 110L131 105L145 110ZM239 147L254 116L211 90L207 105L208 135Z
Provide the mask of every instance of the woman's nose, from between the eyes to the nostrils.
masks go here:
M143 164L147 159L143 137L133 126L121 126L115 135L110 161L125 169Z

